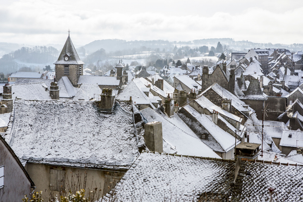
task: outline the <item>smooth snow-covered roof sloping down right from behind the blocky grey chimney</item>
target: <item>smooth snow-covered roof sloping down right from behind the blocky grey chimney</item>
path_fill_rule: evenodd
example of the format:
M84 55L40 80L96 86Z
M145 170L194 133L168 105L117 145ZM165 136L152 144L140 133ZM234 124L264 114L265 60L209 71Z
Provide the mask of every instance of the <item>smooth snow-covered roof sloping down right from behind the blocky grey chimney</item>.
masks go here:
M177 114L173 118L168 118L163 112L157 111L158 113L151 108L145 108L140 112L147 122L162 122L163 140L173 145L177 154L220 158L191 131ZM168 150L170 149L167 148L165 151L165 148L163 148L163 152L168 152Z

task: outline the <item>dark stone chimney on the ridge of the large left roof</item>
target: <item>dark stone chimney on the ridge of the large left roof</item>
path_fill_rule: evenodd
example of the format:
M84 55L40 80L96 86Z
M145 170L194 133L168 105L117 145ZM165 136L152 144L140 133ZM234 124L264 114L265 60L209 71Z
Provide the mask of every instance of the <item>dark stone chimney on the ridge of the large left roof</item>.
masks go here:
M100 101L95 101L95 105L102 111L112 111L115 96L113 95L112 89L103 88L100 96Z

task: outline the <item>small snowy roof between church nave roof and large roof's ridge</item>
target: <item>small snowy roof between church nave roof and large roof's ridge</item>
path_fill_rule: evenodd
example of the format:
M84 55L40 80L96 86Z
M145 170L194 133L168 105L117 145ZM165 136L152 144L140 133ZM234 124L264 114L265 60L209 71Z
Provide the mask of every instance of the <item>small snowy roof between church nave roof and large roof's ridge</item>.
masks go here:
M98 100L101 94L102 91L97 84L82 84L73 100Z

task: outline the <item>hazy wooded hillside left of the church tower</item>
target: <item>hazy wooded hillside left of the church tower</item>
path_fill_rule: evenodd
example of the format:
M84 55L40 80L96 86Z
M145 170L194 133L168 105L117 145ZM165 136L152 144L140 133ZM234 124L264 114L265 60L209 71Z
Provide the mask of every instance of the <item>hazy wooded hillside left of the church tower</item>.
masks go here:
M26 63L45 64L55 62L58 56L58 50L51 46L22 47L0 58L0 71L4 74L9 74L19 71L19 68L26 67L26 65L19 64L16 60Z

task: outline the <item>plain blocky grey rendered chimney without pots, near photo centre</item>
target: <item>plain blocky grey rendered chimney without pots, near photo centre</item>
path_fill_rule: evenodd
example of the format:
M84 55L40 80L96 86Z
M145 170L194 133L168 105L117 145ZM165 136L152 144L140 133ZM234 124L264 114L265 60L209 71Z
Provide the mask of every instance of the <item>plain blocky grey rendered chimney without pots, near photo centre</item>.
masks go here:
M154 121L145 124L143 136L150 151L163 152L162 122Z

